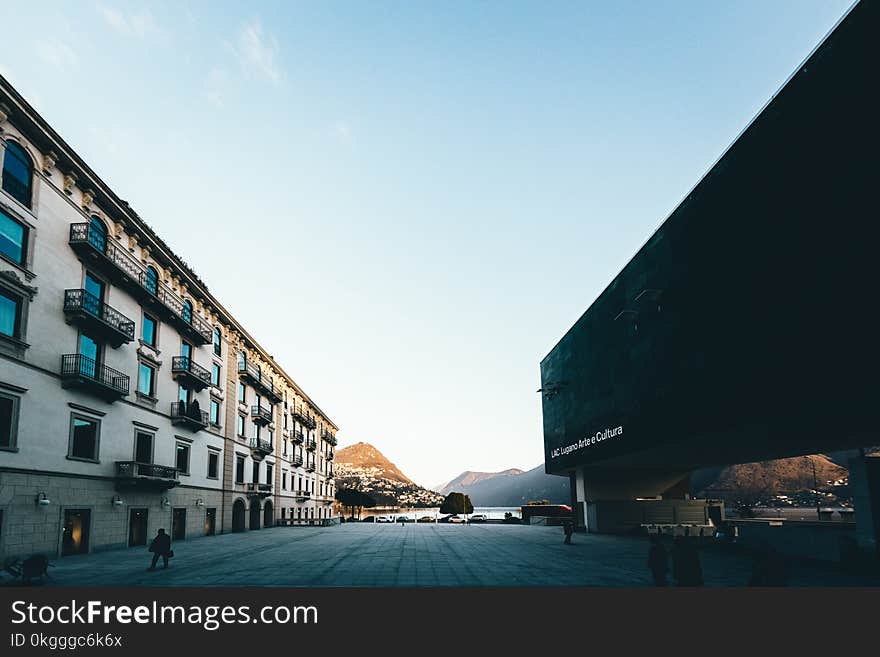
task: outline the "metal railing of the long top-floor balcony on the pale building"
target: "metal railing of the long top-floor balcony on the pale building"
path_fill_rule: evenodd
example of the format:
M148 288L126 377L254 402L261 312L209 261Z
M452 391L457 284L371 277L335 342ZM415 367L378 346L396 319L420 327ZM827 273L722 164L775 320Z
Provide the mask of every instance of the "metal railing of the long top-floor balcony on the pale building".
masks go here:
M116 266L126 277L136 283L142 290L158 299L171 311L179 322L192 327L201 336L205 344L211 342L211 326L201 317L186 309L183 299L164 283L148 278L147 269L129 255L125 249L112 242L106 235L92 228L88 222L70 225L70 245L87 244L102 254Z

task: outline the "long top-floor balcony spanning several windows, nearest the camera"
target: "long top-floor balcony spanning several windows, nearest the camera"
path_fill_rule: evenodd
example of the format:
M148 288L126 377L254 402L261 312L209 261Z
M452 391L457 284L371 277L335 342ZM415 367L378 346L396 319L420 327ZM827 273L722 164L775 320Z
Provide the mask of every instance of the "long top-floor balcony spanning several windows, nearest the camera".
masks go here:
M80 260L128 290L145 306L172 324L195 344L210 344L211 326L171 288L147 275L147 269L112 238L98 233L88 222L71 224L70 248Z

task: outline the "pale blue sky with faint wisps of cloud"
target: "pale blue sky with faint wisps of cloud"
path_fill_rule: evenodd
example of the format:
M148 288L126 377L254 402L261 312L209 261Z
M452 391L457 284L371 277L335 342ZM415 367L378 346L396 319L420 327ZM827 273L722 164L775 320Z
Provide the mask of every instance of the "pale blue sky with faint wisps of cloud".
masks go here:
M541 358L850 4L7 0L0 72L432 485L542 462Z

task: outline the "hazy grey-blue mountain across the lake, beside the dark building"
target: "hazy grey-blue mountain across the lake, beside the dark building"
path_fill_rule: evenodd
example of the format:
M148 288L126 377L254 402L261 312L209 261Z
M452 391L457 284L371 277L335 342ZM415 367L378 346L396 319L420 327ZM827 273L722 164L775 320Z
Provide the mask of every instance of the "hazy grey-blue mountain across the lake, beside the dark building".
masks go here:
M516 468L488 473L465 471L443 492L452 490L470 496L474 506L521 506L532 500L571 504L568 477L548 475L543 465L528 472Z

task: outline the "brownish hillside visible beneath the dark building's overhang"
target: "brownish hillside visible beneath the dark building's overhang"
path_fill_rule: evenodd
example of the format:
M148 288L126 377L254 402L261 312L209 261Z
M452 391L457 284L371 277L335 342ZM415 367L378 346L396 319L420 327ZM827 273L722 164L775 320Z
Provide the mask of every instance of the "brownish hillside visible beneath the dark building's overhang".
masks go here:
M834 482L847 475L846 468L825 454L814 454L697 470L691 475L691 487L701 496L767 500L809 491L814 486L819 490L833 488Z

